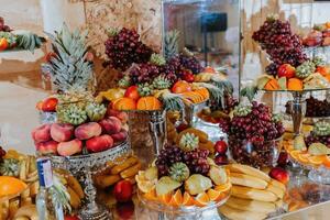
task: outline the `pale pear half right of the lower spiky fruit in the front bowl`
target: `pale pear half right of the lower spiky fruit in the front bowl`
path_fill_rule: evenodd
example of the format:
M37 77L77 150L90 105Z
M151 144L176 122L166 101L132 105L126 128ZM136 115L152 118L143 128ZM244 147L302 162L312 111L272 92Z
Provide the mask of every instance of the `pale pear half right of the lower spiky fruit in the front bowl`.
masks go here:
M190 195L205 193L212 187L212 180L200 174L191 175L185 183L185 188Z

